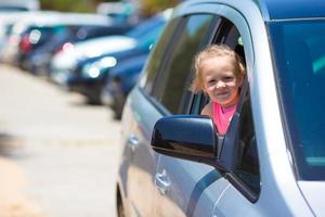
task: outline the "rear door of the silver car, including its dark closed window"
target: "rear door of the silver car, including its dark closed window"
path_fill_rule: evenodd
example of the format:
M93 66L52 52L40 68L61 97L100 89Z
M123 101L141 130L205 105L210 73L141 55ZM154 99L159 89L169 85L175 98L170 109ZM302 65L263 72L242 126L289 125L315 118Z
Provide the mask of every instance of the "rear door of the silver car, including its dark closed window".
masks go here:
M211 25L216 20L218 17L211 14L197 14L171 21L150 56L139 87L131 92L127 102L130 104L127 107L132 110L123 113L131 113L131 118L123 118L132 119L130 125L134 126L128 130L126 139L131 158L127 183L131 216L157 215L153 208L156 202L155 177L159 155L151 148L152 130L160 117L177 114L183 105L182 99L188 92L186 80L193 54L211 40L207 33L208 29L216 28L216 25ZM173 38L178 40L171 40Z

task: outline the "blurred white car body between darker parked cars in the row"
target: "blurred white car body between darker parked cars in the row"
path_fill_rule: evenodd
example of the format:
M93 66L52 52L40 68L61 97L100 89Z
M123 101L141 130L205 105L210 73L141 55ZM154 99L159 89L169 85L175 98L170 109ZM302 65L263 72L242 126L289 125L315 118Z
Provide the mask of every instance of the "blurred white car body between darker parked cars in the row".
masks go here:
M125 35L101 37L75 43L73 49L63 49L53 55L51 61L51 77L55 82L63 86L67 86L66 82L74 79L70 77L76 77L76 79L78 77L82 78L81 71L84 64L99 61L106 55L112 55L112 53L136 48L136 40L146 35L160 21L160 16L152 17L136 25L136 27Z

